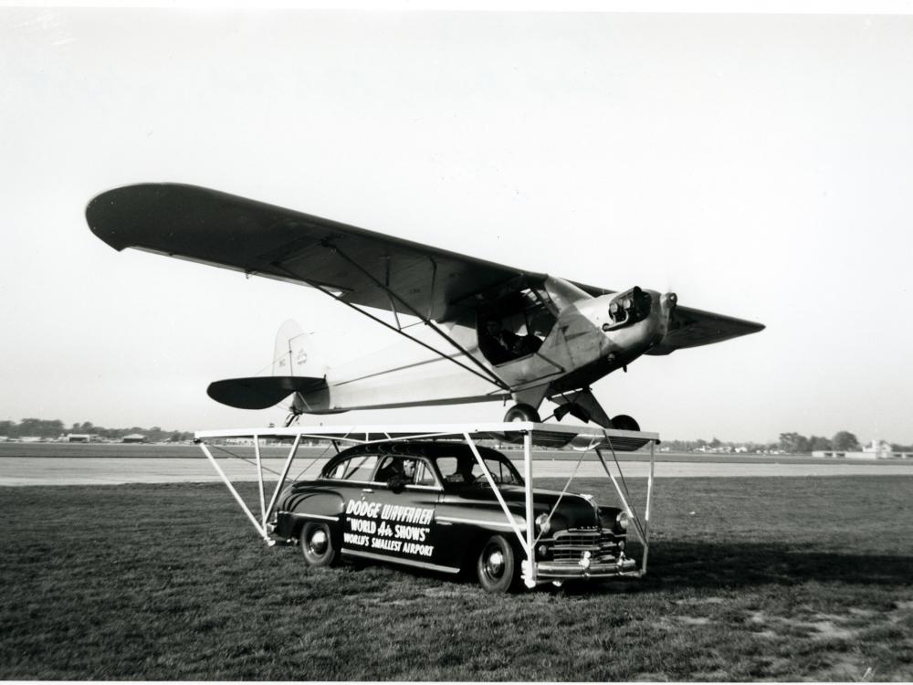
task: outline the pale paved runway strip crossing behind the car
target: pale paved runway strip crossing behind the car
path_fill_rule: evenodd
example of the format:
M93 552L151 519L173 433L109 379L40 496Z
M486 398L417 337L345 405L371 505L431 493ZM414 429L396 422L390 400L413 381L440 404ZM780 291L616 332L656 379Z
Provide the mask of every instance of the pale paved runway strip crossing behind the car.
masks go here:
M325 459L301 458L294 463L289 476L299 476L308 467L308 473L317 473ZM229 479L256 480L257 470L235 458L217 459ZM278 478L284 460L264 458L269 480ZM567 478L576 462L572 460L536 459L533 461L534 478ZM614 464L610 462L614 469ZM522 463L518 464L522 472ZM648 461L622 462L625 478L645 477L649 472ZM578 477L602 476L599 462L588 455L577 470ZM913 476L913 461L821 461L819 463L740 463L657 461L657 478L706 478L706 477L768 477L768 476ZM0 486L16 485L116 485L121 483L182 483L218 481L212 465L199 458L116 458L116 457L5 457L0 458Z

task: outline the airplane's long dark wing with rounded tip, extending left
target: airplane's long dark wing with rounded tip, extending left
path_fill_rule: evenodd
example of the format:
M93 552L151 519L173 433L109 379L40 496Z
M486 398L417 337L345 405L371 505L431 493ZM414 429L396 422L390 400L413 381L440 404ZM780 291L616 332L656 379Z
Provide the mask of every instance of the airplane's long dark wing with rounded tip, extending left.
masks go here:
M194 185L116 188L94 198L86 218L117 250L288 280L352 304L436 321L456 318L477 292L520 276L544 278Z

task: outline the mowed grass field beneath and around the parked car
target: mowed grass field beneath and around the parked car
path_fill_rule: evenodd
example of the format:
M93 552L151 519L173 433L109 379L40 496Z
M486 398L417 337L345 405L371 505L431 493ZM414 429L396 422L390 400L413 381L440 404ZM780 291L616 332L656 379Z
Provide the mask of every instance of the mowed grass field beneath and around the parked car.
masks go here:
M0 489L0 678L913 680L913 478L661 479L654 504L644 579L493 596L310 570L220 484Z

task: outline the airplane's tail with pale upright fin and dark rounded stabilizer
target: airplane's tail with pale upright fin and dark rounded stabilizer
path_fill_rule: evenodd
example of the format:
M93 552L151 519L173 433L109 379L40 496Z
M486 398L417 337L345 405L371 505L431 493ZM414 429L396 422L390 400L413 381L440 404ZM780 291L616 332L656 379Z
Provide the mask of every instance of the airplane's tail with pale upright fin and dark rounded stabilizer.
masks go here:
M268 409L294 393L294 404L298 405L300 394L326 387L326 374L327 365L310 336L296 321L286 321L276 335L272 375L215 381L206 388L206 394L238 409Z

